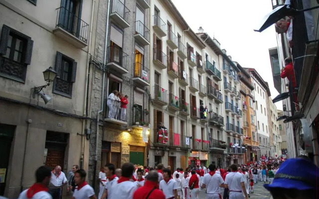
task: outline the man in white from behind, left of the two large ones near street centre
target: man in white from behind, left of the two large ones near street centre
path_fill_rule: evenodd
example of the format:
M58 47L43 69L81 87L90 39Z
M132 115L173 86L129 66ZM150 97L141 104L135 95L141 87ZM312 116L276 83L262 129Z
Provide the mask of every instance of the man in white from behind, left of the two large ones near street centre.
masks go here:
M202 188L206 188L206 199L220 199L220 188L224 187L224 180L220 174L215 173L216 166L209 165L209 173L204 175Z

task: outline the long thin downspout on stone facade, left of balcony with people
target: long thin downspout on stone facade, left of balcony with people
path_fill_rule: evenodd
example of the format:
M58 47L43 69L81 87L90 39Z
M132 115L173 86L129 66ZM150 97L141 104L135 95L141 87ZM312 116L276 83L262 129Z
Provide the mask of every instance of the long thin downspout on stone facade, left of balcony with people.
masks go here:
M109 33L109 13L110 13L110 7L111 7L111 0L108 0L108 11L107 11L107 17L106 17L106 29L105 29L105 47L104 47L104 61L103 66L106 65L106 57L107 57L107 44L108 44L108 33ZM99 142L99 121L100 121L100 114L103 112L104 109L104 95L105 95L105 77L106 72L103 71L103 79L102 79L102 100L101 100L101 110L98 111L97 115L97 122L96 122L96 147L95 147L95 160L98 160L98 142Z

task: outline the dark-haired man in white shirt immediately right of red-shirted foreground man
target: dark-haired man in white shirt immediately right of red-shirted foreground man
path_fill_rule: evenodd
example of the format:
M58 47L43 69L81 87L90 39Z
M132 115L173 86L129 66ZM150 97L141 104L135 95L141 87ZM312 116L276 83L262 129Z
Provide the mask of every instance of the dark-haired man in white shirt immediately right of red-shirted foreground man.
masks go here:
M160 191L165 195L165 199L177 199L177 185L176 182L171 179L171 173L169 169L163 170L164 179L160 181Z

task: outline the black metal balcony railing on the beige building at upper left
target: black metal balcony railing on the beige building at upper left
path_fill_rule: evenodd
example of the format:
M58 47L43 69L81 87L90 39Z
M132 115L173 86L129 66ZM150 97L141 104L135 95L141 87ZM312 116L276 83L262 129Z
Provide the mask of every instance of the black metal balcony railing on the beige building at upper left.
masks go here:
M56 23L55 27L60 27L71 35L88 42L89 24L80 19L75 13L69 11L65 7L56 8Z

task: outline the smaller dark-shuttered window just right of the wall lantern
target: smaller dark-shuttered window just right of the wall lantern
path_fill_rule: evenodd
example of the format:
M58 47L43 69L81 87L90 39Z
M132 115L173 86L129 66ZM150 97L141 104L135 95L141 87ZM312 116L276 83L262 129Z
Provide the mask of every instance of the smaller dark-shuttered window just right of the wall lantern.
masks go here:
M57 72L57 77L54 80L53 93L72 98L76 68L77 62L74 59L56 52L55 71Z

